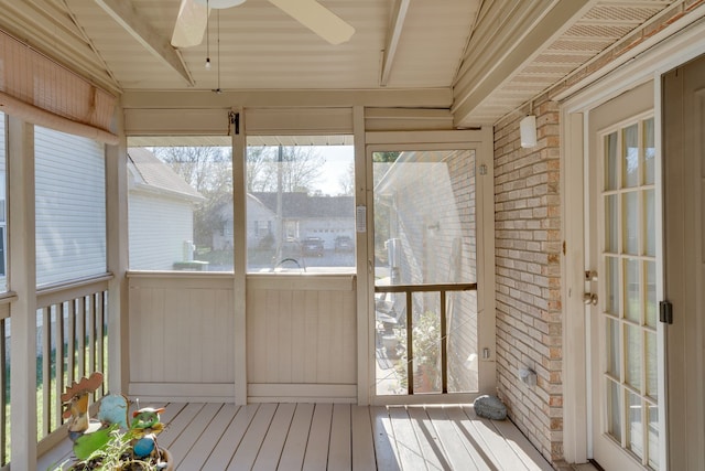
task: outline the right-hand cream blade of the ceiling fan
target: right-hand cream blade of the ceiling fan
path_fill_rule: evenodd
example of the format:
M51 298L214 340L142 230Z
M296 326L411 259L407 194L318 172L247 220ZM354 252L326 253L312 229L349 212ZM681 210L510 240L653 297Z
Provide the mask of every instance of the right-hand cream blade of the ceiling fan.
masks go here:
M330 44L350 40L355 28L316 0L269 0Z

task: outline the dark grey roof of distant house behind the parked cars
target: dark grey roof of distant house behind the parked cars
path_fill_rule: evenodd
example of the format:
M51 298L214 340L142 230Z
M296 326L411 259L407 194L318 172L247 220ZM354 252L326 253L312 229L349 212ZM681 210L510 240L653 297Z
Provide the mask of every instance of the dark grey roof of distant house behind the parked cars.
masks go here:
M276 213L276 193L252 192L273 213ZM355 202L352 196L310 196L302 192L282 193L283 217L352 217Z

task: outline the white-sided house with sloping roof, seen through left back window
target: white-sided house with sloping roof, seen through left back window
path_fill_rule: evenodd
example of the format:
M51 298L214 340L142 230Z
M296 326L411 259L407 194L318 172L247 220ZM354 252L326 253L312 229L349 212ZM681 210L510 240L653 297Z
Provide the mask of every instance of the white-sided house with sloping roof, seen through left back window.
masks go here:
M193 260L194 207L204 197L147 149L128 150L130 268Z

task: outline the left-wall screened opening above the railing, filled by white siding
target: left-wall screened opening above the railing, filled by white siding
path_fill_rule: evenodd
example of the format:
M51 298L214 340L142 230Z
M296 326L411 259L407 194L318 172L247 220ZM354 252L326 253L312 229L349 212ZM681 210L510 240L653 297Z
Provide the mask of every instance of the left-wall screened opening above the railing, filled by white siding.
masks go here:
M104 146L35 128L36 282L106 272Z

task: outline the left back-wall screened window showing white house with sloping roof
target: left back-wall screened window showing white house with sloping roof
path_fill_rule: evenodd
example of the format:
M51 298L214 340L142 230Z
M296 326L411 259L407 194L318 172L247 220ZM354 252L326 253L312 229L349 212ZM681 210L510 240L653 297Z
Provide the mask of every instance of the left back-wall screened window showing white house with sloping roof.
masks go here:
M232 271L230 138L129 144L130 269Z

